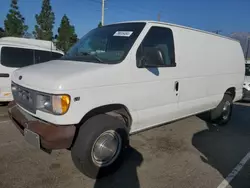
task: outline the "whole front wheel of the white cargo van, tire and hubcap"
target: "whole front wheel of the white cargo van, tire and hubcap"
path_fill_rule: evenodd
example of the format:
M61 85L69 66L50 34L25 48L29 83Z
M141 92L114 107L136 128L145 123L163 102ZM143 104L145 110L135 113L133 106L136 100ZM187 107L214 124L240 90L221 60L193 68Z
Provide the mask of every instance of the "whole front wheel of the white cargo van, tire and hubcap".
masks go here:
M120 167L128 143L128 132L122 120L97 115L80 127L71 151L72 160L86 176L101 178Z

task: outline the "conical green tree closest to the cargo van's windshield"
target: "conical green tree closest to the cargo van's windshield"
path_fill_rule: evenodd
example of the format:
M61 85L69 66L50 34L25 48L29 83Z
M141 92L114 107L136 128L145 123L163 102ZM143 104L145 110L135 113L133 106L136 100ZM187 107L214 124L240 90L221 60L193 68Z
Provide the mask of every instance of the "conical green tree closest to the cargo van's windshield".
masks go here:
M56 46L60 50L67 52L69 48L77 42L75 27L70 25L69 18L64 15L58 28Z

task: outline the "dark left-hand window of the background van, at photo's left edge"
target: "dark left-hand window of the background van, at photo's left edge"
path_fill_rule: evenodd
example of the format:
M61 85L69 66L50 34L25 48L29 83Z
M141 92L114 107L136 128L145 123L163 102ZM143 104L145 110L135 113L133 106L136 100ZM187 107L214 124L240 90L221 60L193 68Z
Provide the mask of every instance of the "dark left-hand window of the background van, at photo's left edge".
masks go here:
M34 64L33 55L31 49L2 47L1 64L6 67L25 67Z

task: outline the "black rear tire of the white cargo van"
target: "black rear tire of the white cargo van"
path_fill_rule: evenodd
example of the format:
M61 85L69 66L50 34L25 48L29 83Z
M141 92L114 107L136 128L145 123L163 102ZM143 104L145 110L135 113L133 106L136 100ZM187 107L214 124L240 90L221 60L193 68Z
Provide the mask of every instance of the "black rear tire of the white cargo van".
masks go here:
M211 120L219 126L226 125L232 116L233 99L229 94L225 94L220 104L211 111Z

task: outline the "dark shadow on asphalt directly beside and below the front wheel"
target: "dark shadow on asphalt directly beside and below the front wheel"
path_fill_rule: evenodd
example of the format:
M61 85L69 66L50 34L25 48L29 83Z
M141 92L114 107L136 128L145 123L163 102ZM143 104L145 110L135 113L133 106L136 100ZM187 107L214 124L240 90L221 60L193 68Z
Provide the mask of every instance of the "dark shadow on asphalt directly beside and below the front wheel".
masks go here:
M129 147L121 168L113 175L96 180L94 188L140 188L137 167L142 161L142 154Z

